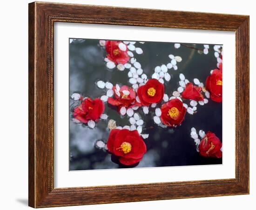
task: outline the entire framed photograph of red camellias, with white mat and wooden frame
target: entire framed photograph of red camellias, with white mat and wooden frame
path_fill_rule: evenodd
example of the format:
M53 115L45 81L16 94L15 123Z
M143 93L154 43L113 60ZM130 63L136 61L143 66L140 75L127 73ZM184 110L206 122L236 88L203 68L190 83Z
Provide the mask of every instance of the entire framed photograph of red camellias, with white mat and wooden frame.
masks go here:
M29 206L249 194L249 16L29 4Z

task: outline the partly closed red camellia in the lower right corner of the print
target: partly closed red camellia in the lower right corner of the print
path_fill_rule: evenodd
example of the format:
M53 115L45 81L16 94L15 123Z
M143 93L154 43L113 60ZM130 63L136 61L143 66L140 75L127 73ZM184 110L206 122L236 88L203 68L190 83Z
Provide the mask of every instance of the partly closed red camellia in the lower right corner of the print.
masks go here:
M204 157L221 158L222 143L214 133L208 131L199 144L199 153Z

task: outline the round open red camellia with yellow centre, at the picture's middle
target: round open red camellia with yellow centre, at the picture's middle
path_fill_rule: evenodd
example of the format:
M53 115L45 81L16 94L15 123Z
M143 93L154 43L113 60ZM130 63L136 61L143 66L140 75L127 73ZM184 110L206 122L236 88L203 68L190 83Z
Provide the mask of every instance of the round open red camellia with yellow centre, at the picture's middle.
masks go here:
M153 103L158 103L162 100L164 94L164 86L157 79L148 79L145 85L138 88L138 97L141 104L148 106Z

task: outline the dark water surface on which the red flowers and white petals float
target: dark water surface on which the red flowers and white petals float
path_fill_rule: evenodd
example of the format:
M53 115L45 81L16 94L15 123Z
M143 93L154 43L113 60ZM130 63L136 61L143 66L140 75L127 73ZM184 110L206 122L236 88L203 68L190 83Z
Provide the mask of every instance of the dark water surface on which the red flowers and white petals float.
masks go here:
M214 51L209 54L199 54L197 50L181 46L175 49L174 43L145 42L141 47L143 53L135 54L135 58L141 64L143 73L148 78L154 73L155 66L161 66L170 62L169 54L182 57L182 62L177 63L178 70L168 69L171 80L165 81L165 93L168 96L179 86L179 74L183 73L186 79L193 81L198 78L205 84L207 76L212 69L216 68L216 58ZM191 44L190 44L191 46ZM202 44L195 45L196 48L203 48ZM213 49L213 45L210 45ZM99 89L95 84L98 80L109 81L112 84L122 84L131 86L128 82L128 69L119 71L116 68L109 70L106 67L104 58L106 52L104 47L99 45L98 39L85 39L84 41L73 41L69 45L69 96L74 92L79 92L85 97L97 98L106 95L105 89ZM95 148L96 140L108 140L108 120L99 121L94 129L86 125L76 124L72 121L72 108L74 101L70 99L70 123L69 123L69 152L70 170L92 170L92 169L112 169L124 166L116 164L115 158L111 160L108 152ZM158 106L159 107L159 106ZM153 121L155 108L149 108L148 115L139 112L144 120L142 133L148 133L145 139L147 152L141 162L135 167L155 167L155 166L182 166L182 165L205 165L222 164L222 158L204 158L195 149L194 140L190 137L190 130L195 127L197 131L212 131L222 141L222 103L213 102L203 106L197 105L197 113L190 115L186 113L181 126L176 128L163 129ZM107 103L105 112L108 119L114 119L117 125L130 125L128 116L120 117Z

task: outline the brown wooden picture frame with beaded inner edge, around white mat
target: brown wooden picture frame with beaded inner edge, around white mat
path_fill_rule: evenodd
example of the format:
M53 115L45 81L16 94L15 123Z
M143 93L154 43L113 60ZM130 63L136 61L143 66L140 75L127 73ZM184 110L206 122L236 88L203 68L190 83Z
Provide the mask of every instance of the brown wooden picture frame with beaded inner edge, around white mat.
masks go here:
M29 206L34 208L249 194L249 16L29 4ZM54 22L236 32L236 178L54 188Z

